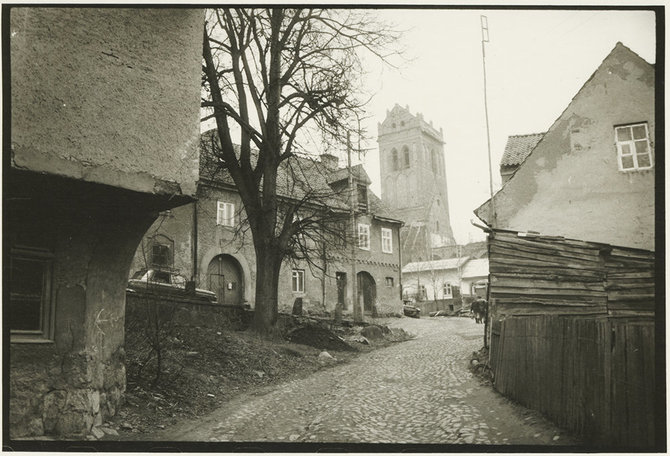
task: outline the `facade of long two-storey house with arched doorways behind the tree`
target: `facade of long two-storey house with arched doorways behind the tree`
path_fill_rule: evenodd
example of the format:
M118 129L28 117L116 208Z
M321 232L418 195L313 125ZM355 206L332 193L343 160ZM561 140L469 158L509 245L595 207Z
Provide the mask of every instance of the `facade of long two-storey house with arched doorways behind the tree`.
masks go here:
M349 173L346 168L338 168L332 158L299 160L309 160L304 169L310 170L310 185L321 185L322 195L326 194L323 189L329 189L336 209L343 211L343 226L349 230ZM401 222L392 219L369 190L370 180L363 168L357 166L352 171L356 188L354 239L343 245L329 244L327 251L312 261L287 258L280 271L280 312L291 312L297 299L311 313L332 314L339 303L345 315L352 314L355 302L364 315L402 311ZM286 178L280 169L278 181ZM293 185L289 187L294 190ZM137 249L131 271L167 267L185 278L192 277L198 288L215 292L219 304L254 308L256 256L251 236L232 179L226 173L211 175L203 171L197 201L164 213L154 223ZM355 243L354 263L351 242ZM356 299L352 278L356 280Z

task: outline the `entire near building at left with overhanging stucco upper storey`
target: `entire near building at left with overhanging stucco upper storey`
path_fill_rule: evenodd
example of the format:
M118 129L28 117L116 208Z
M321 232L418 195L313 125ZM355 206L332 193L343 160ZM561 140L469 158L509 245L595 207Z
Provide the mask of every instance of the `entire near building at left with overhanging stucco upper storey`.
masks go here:
M204 13L9 15L9 432L82 437L125 391L137 245L159 211L195 196Z

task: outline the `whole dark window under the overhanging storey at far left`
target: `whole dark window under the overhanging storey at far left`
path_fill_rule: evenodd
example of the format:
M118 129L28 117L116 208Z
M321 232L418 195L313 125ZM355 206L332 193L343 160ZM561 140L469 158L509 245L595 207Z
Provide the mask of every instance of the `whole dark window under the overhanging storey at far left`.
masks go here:
M9 267L9 327L13 341L49 339L51 264L46 251L12 249Z

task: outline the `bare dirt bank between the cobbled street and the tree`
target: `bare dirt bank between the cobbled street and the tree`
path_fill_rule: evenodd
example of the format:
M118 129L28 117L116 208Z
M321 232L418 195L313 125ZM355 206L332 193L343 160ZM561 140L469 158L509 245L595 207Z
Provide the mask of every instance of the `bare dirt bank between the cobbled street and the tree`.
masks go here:
M103 439L141 440L144 433L203 416L244 393L305 377L331 364L319 359L323 350L337 352L337 363L343 363L411 338L402 330L384 327L387 337L382 341L348 343L345 339L359 334L361 326L290 315L282 315L277 327L276 337L267 340L240 330L239 325L175 322L163 335L161 374L156 380L157 360L155 353L150 356L146 330L127 324L125 404L104 423L118 435Z

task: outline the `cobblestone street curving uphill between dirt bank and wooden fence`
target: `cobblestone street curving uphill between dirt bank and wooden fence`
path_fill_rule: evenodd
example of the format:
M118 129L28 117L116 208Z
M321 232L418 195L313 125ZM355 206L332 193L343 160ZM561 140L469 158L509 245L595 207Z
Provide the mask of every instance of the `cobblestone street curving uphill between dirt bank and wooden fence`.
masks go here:
M469 318L395 319L416 339L238 398L156 439L255 442L569 445L539 414L467 370L483 325ZM333 354L337 356L336 353Z

